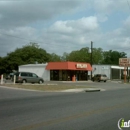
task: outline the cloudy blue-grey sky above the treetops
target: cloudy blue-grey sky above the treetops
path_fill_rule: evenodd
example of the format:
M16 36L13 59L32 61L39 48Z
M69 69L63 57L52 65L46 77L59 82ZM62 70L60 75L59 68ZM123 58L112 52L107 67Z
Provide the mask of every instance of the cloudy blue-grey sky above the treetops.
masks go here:
M63 55L91 41L130 57L130 0L0 0L0 57L30 42Z

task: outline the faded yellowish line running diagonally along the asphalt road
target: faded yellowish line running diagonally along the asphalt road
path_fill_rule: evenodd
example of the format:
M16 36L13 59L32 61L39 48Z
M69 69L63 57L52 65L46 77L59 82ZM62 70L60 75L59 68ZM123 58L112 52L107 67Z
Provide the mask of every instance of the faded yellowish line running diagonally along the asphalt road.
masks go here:
M102 112L107 112L107 111L111 111L111 110L115 110L117 108L122 108L124 106L129 106L130 105L130 101L126 102L124 104L119 104L119 105L115 105L115 106L111 106L111 107L106 107L106 108L102 108L102 109L98 109L98 110L92 110L89 112L83 112L83 113L79 113L76 115L72 115L72 116L67 116L67 117L63 117L63 118L59 118L59 119L54 119L54 120L50 120L50 121L45 121L45 122L41 122L41 123L37 123L37 124L32 124L32 125L28 125L28 126L23 126L21 128L16 128L13 130L32 130L32 129L38 129L40 127L43 126L48 126L48 125L52 125L52 124L57 124L57 123L61 123L61 122L66 122L69 120L74 120L77 118L82 118L82 117L86 117L86 116L90 116L93 114L100 114Z

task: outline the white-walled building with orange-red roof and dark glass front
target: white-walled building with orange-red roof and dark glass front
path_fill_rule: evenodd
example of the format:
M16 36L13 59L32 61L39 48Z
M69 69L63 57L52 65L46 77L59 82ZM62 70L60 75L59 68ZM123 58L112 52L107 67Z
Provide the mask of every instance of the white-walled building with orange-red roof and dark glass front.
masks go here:
M89 63L81 62L49 62L21 65L19 71L36 73L45 81L72 81L88 80L88 72L92 71L92 67Z

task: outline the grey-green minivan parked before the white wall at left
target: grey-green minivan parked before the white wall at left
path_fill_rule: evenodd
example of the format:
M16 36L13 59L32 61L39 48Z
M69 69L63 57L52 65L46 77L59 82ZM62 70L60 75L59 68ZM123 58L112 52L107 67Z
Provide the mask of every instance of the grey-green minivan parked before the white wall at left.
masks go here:
M31 72L16 72L16 83L44 83L44 79Z

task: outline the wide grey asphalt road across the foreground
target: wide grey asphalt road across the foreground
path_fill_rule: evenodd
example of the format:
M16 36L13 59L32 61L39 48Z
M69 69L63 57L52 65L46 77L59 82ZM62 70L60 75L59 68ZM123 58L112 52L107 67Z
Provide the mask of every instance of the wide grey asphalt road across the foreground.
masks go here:
M107 89L45 93L0 87L0 130L118 130L120 118L130 120L129 85L94 85Z

